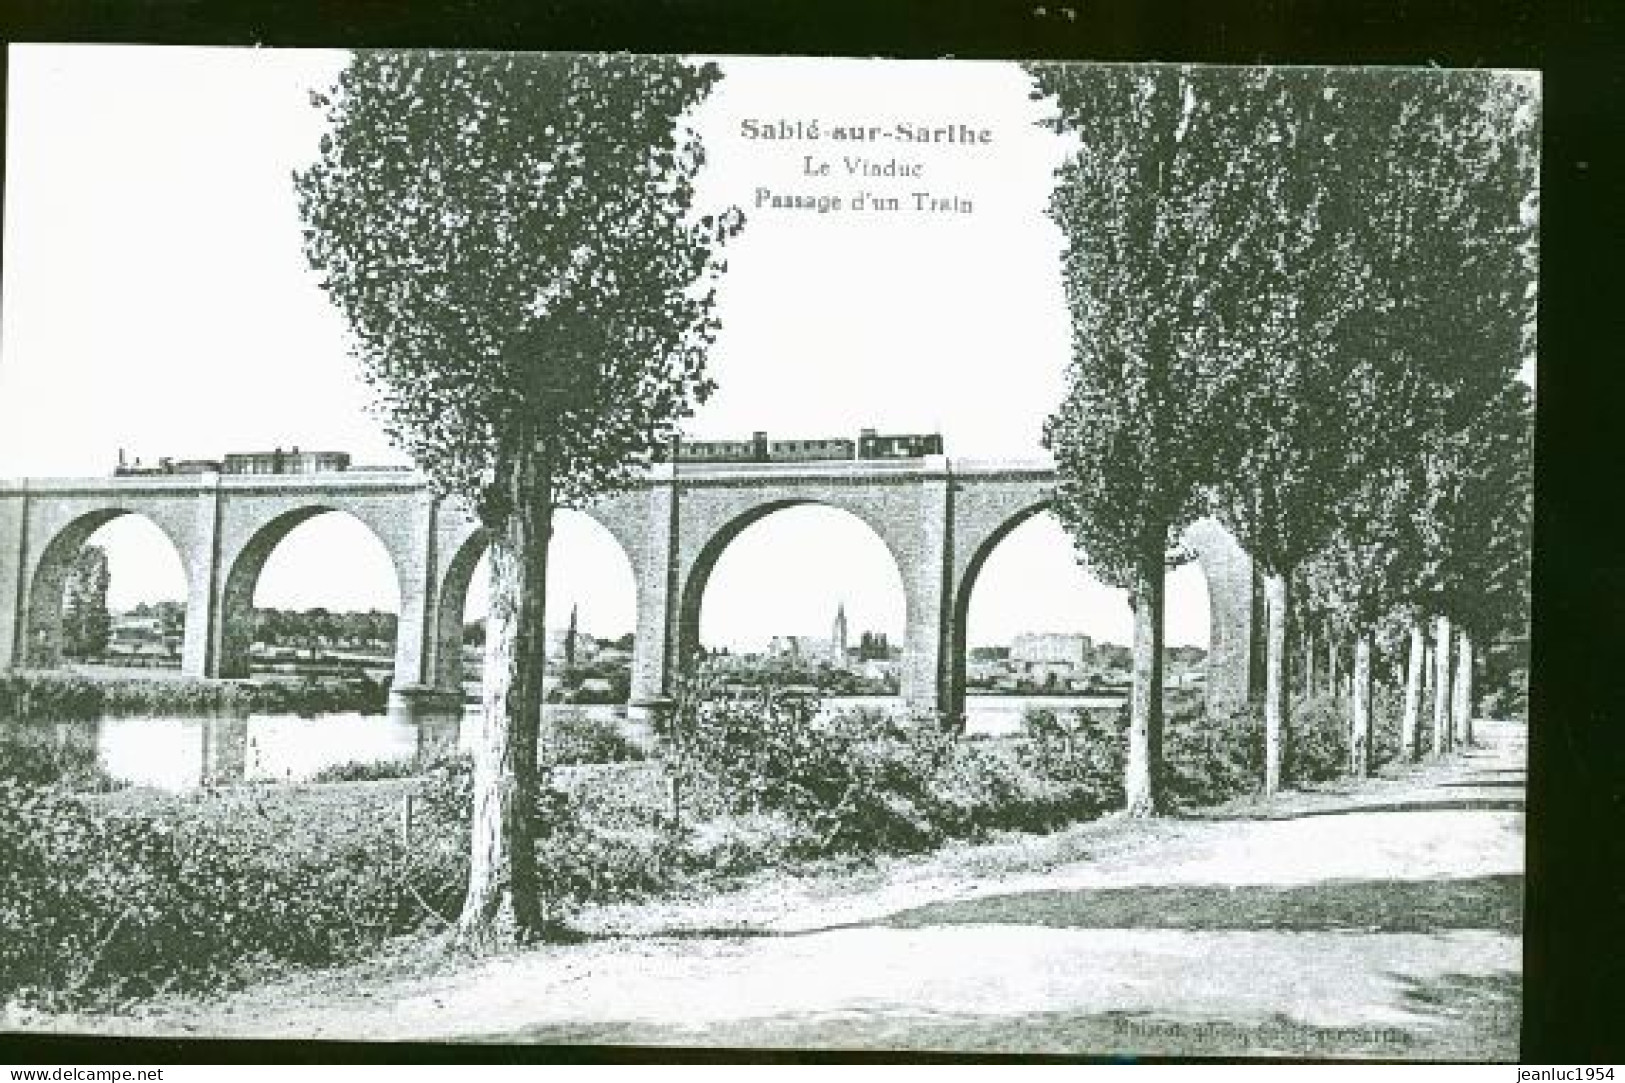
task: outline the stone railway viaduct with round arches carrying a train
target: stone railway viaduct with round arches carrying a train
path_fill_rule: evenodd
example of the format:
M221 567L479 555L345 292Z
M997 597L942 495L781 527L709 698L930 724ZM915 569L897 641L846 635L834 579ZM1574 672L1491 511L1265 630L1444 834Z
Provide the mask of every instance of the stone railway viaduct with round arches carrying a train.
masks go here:
M970 594L993 548L1050 502L1048 462L905 460L663 463L585 512L621 543L637 590L632 701L671 689L699 646L705 584L728 543L795 504L863 520L897 563L910 707L959 712ZM486 538L453 501L408 470L310 475L146 475L0 481L0 670L60 662L63 582L102 524L145 515L174 543L188 582L182 670L247 676L254 590L276 545L340 511L370 527L400 582L395 688L455 691L463 602ZM1211 702L1258 681L1259 611L1251 559L1217 522L1186 533L1209 589Z

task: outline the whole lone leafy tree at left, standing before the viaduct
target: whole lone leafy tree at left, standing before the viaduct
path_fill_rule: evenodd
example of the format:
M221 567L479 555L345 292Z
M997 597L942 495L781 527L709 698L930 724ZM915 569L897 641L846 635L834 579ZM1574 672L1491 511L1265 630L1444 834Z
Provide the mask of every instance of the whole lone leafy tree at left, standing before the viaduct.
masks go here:
M694 213L717 83L671 57L359 52L296 177L395 442L491 537L465 940L543 929L533 823L552 511L626 483L710 382L738 213Z

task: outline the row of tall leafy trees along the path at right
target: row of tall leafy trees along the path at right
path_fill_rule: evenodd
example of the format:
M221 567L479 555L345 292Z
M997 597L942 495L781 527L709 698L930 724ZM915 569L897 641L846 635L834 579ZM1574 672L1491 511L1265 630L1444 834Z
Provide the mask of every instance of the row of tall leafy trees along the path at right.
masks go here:
M1532 88L1419 70L1032 76L1079 143L1051 202L1072 361L1045 442L1079 555L1134 607L1129 810L1160 802L1164 579L1201 515L1264 582L1266 790L1290 771L1294 620L1354 644L1357 771L1373 650L1407 642L1414 751L1425 624L1448 696L1453 652L1471 675L1474 644L1526 618Z

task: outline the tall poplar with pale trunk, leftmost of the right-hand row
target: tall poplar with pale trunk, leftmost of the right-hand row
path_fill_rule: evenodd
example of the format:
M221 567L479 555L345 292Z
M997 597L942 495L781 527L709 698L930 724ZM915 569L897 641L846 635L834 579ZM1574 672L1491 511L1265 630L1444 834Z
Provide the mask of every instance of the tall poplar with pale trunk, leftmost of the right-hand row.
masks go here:
M1251 78L1190 67L1030 68L1077 141L1050 205L1066 237L1066 394L1045 424L1055 511L1082 563L1134 610L1128 811L1162 800L1164 590L1217 447L1219 348L1248 244L1235 200L1258 145Z

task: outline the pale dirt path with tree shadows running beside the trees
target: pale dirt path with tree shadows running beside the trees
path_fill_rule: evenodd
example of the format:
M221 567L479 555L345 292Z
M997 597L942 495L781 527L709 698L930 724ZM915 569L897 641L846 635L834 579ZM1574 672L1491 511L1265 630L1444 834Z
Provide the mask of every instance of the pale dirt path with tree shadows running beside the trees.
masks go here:
M1514 1059L1521 727L1398 779L596 909L106 1033ZM60 1021L57 1021L60 1026Z

